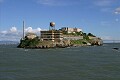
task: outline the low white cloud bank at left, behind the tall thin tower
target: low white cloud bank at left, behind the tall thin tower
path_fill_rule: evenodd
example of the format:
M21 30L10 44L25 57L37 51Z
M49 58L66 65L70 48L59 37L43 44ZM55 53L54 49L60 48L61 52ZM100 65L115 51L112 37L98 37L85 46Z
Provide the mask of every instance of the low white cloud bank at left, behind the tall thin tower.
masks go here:
M40 34L41 29L28 27L25 29L26 32L33 32ZM9 30L0 31L0 41L19 41L22 38L22 30L18 31L16 27L11 27Z

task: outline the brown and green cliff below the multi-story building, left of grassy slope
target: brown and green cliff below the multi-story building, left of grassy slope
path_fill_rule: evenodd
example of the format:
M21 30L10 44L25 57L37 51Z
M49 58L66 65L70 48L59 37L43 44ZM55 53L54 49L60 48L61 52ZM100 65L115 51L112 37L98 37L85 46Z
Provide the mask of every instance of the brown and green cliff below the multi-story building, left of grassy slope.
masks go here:
M25 39L25 40L21 40L20 44L18 45L18 48L65 48L71 46L70 41L68 40L63 40L63 41L59 41L59 42L53 42L50 40L46 40L46 41L41 41L38 38L34 38L34 39Z

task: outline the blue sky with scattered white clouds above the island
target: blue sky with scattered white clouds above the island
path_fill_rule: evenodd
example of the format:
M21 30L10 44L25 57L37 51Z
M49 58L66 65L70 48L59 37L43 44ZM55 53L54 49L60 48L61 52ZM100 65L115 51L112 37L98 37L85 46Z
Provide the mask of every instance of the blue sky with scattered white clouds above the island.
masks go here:
M105 40L120 40L120 0L0 0L0 40L19 40L26 31L48 29L49 22L77 27Z

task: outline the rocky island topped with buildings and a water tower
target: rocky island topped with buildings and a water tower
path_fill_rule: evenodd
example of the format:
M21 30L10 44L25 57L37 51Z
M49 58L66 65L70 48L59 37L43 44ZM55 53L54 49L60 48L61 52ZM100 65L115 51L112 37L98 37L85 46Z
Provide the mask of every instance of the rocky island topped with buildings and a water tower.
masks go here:
M77 46L101 46L103 41L92 33L84 33L79 28L62 27L55 29L55 23L50 22L49 30L40 31L40 35L26 33L21 38L18 48L47 49L47 48L66 48Z

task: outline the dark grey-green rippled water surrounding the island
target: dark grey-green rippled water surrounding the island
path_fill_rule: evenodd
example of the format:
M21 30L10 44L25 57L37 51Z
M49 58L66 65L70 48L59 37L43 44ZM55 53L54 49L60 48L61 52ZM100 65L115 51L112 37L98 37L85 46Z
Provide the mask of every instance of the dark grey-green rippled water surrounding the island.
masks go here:
M16 46L0 45L0 80L120 80L120 43L56 49Z

